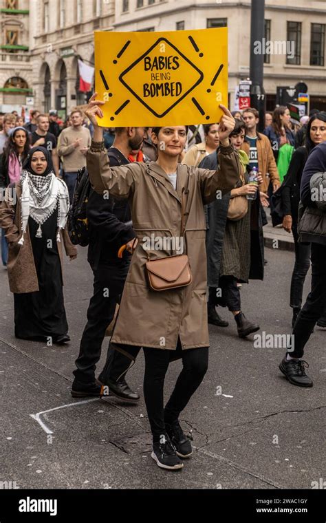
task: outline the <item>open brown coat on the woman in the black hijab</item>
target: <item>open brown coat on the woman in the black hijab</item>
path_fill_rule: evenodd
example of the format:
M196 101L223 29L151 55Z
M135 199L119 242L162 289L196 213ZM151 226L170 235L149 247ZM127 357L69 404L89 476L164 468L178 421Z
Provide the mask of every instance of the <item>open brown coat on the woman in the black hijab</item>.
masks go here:
M23 245L19 245L18 241L22 234L21 229L21 184L16 184L17 190L17 204L16 206L10 198L8 189L6 190L5 198L0 206L0 224L6 230L6 238L8 241L8 278L11 292L23 294L24 292L36 292L39 290L39 281L37 279L36 268L34 264L32 243L30 241L30 232L28 227L24 235ZM58 254L61 261L61 272L63 264L63 249L65 246L67 256L74 256L77 254L76 247L70 242L67 228L60 231L61 242L57 242Z

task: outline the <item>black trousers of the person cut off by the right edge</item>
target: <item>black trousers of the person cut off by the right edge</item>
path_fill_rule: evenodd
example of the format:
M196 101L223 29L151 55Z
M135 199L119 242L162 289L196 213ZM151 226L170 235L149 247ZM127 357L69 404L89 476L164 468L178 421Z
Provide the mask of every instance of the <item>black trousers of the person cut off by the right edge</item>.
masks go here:
M326 245L312 244L312 290L301 309L292 332L292 342L287 348L290 356L301 358L305 344L316 322L326 308Z

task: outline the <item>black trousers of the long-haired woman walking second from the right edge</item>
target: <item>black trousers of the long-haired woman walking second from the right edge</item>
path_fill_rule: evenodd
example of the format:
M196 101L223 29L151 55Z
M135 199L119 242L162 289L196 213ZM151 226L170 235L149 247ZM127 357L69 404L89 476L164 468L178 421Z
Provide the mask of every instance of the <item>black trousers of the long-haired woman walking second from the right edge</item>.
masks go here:
M297 224L292 226L292 235L294 238L295 261L291 279L290 290L290 307L300 308L302 304L303 284L310 267L310 244L301 244L298 242Z

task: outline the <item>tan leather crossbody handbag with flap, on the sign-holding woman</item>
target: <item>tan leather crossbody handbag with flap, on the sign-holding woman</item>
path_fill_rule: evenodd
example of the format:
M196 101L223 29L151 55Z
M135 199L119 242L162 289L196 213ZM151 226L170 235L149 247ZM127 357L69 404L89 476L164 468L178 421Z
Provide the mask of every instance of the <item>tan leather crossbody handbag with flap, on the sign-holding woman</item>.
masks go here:
M184 236L184 194L188 190L182 189L181 200L181 236ZM153 290L169 290L186 287L191 284L193 276L186 254L167 256L165 258L149 259L146 261L149 285Z

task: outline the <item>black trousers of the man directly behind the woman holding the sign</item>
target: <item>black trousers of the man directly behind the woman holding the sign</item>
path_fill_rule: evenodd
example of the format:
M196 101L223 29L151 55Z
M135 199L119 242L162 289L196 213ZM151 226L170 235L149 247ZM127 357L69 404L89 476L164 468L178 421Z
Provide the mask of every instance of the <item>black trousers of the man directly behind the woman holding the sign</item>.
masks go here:
M94 294L89 301L87 325L80 341L79 356L74 370L75 378L82 383L93 383L95 380L96 363L100 359L105 331L114 317L116 304L120 303L128 269L129 261L122 259L112 264L99 265L93 270ZM120 374L127 372L130 363L127 356L113 350L109 345L107 363L100 379L105 381L105 378L109 378L116 381Z

